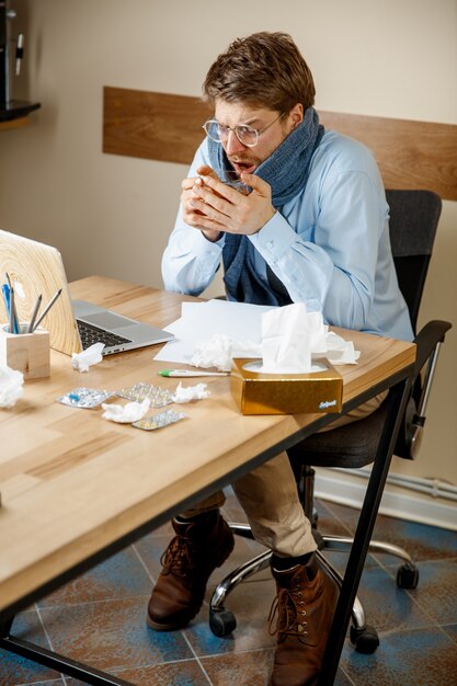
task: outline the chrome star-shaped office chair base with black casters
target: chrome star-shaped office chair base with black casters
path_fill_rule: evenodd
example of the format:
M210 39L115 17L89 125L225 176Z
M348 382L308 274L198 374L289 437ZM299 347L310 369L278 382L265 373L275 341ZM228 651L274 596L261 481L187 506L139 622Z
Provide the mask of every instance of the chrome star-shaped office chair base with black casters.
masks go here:
M230 523L230 529L233 534L243 538L253 540L252 531L249 524ZM352 546L352 538L345 536L320 536L323 549L349 551ZM392 554L404 561L397 573L397 584L401 588L415 588L419 582L419 571L414 565L409 553L391 544L372 540L369 544L370 552L382 552ZM342 578L334 567L324 558L321 550L317 550L319 562L324 571L341 587ZM253 576L258 572L270 568L272 557L271 550L261 552L255 558L244 562L237 570L227 574L225 579L216 586L212 599L209 602L209 628L213 633L219 638L230 634L237 627L237 620L231 610L226 609L225 602L229 593L233 591L241 582ZM364 608L356 597L352 608L352 626L350 630L351 642L355 650L361 653L369 654L375 652L379 645L377 631L374 627L366 624Z

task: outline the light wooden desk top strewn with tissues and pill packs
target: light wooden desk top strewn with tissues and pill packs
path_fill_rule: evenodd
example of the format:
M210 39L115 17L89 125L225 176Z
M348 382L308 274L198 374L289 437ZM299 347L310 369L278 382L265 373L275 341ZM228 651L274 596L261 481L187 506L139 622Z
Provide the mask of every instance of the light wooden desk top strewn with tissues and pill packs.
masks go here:
M183 300L193 300L102 277L77 282L71 293L159 327L180 317ZM346 411L392 377L409 376L413 344L340 332L362 352L357 365L340 367ZM116 390L148 381L174 389L176 379L157 375L157 350L106 357L88 374L52 351L50 378L27 381L15 407L0 410L0 624L332 421L322 414L242 416L224 377L207 379L212 396L185 405L188 419L158 432L56 402L78 386Z

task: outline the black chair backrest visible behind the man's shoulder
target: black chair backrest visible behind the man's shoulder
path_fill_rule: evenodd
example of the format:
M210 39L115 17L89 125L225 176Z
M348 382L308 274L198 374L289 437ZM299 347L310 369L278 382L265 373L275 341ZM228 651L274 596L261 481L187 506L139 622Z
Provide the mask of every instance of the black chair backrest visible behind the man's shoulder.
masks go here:
M386 197L398 282L415 333L442 201L432 191L386 191Z

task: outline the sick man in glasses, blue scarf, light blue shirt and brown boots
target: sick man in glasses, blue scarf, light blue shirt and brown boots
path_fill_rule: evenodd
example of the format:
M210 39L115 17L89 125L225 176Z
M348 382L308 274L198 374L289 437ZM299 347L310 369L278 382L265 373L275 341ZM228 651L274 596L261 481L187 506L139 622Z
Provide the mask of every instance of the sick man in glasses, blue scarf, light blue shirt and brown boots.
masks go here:
M227 298L302 301L325 322L412 340L392 262L388 206L370 152L324 132L311 72L290 36L235 41L210 67L207 137L182 183L181 210L163 254L165 288L199 295L224 264ZM250 188L230 186L232 175ZM382 398L340 420L373 412ZM233 483L255 538L273 550L277 649L272 684L319 673L336 601L315 560L310 523L285 453ZM156 630L184 627L233 537L217 493L173 522L176 536L148 607Z

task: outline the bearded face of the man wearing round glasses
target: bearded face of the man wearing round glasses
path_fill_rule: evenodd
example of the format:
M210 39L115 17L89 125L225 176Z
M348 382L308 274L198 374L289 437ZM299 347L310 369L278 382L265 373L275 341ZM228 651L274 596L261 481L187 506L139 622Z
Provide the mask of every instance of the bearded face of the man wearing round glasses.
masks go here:
M262 132L276 119L281 112L269 108L253 108L242 103L228 103L216 100L215 117L219 124L235 128L240 124L248 124ZM302 119L302 106L297 104L288 114L277 118L264 133L260 133L256 146L243 146L232 130L221 145L235 171L240 174L252 174L255 169L269 158Z

